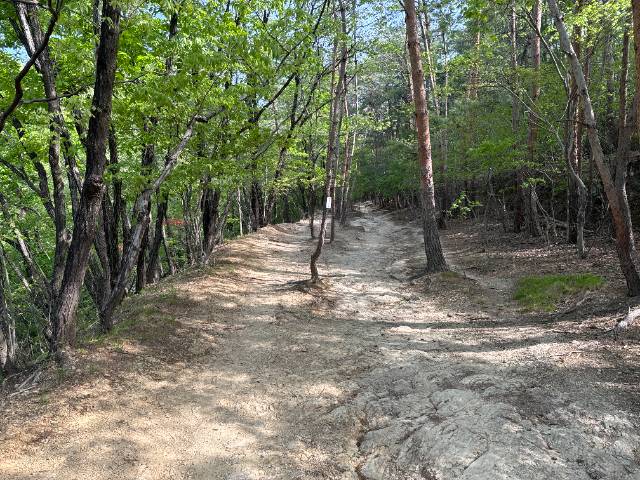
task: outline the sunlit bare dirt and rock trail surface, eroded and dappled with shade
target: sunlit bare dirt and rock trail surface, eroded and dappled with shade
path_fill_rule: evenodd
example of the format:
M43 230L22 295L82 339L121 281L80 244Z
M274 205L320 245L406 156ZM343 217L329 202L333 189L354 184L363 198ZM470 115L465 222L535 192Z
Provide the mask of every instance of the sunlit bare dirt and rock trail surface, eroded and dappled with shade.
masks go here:
M520 312L526 260L474 235L420 276L418 228L361 206L312 290L306 225L230 243L5 399L0 478L640 479L635 347Z

